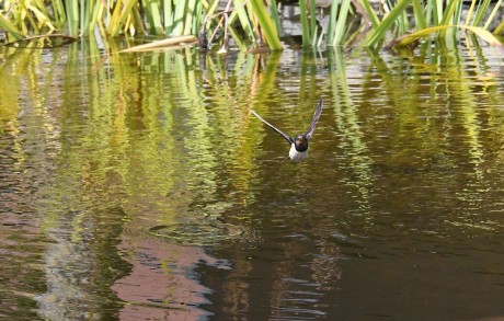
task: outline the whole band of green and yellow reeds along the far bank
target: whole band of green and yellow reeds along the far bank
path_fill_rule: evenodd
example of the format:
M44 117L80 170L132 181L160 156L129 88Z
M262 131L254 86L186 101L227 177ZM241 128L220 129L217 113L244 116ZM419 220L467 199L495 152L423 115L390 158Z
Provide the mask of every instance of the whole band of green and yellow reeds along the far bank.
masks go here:
M499 44L489 27L494 23L497 27L493 32L503 32L502 2L472 0L462 18L462 0L385 1L378 9L374 9L371 0L333 1L325 13L325 30L317 20L317 2L299 0L302 45L345 46L360 33L366 34L359 43L364 46L379 47L392 38L398 38L393 44L401 46L432 33L444 36L453 26ZM96 32L104 37L197 36L203 30L210 43L222 49L230 36L242 49L264 42L272 50L278 50L282 23L277 10L275 0L267 4L261 0L0 0L0 30L5 31L9 41L55 32L70 36ZM350 22L355 21L360 25L352 28L355 23Z

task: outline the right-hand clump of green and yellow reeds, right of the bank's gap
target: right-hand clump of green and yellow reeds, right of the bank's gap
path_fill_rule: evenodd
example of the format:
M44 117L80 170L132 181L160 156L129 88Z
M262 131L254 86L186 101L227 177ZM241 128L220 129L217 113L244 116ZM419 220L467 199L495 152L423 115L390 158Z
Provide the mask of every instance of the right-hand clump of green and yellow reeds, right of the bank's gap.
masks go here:
M302 44L306 46L320 44L320 42L314 42L316 34L311 24L312 13L319 9L312 5L307 7L306 0L299 0L299 5L301 8ZM354 33L366 28L366 36L360 44L368 47L379 47L380 44L399 37L405 41L419 39L435 32L438 36L444 36L444 32L454 26L471 31L491 44L500 44L490 33L489 27L492 22L500 23L494 30L495 34L502 33L504 28L503 23L499 21L503 18L502 0L494 1L494 3L491 0L472 0L467 19L463 21L465 5L462 0L447 0L446 2L398 0L387 1L382 8L375 10L371 1L368 0L333 1L325 44L328 46L346 45L353 38L347 21L355 19L360 19L362 24ZM383 15L381 12L388 13ZM370 26L366 25L365 21L369 21ZM409 34L412 34L411 38ZM402 45L403 43L397 41L392 44Z

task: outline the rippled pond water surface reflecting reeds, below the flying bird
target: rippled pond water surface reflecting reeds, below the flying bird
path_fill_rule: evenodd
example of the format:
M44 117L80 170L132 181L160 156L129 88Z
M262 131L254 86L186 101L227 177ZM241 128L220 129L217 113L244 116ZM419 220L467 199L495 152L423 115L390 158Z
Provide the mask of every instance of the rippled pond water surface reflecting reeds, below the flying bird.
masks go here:
M504 318L496 49L117 48L2 48L0 319Z

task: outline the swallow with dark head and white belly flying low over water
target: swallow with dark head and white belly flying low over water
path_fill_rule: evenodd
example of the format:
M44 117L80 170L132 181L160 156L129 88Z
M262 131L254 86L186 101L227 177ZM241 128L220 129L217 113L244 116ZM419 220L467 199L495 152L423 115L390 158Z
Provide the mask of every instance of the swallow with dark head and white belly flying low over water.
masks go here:
M261 117L254 110L251 110L252 114L255 115L261 122L270 126L273 130L278 133L282 137L284 137L289 144L290 144L290 150L289 150L289 158L295 161L295 162L300 162L305 160L308 157L308 140L311 138L311 135L313 135L314 127L317 125L317 122L320 118L320 115L322 114L322 99L319 100L317 103L316 112L313 114L313 118L311 118L311 124L310 127L308 127L308 130L305 134L299 134L296 137L290 137L280 129L276 128L263 117Z

